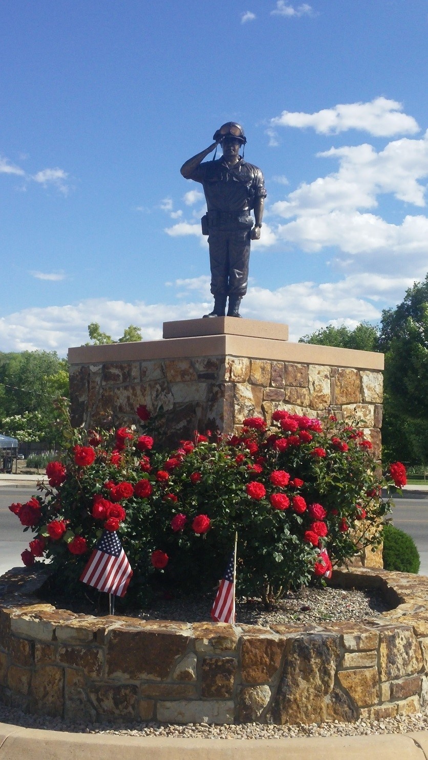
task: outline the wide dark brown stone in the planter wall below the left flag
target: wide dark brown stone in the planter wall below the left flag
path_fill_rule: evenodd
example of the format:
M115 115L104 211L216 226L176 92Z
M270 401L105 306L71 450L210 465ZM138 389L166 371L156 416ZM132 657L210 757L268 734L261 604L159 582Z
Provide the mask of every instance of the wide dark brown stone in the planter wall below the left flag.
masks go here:
M110 634L106 654L109 678L166 679L185 654L189 635L178 632L125 631L116 629Z

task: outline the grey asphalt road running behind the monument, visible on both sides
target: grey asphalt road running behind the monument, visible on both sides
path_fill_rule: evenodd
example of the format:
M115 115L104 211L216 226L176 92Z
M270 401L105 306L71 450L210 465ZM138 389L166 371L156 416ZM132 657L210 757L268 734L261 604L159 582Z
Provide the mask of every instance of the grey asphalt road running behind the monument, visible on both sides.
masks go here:
M21 552L31 540L30 530L23 532L20 521L8 506L12 502L27 502L35 492L33 485L27 488L0 486L0 575L22 564ZM420 573L428 575L428 492L406 492L404 498L396 496L392 518L395 527L414 538L420 553Z

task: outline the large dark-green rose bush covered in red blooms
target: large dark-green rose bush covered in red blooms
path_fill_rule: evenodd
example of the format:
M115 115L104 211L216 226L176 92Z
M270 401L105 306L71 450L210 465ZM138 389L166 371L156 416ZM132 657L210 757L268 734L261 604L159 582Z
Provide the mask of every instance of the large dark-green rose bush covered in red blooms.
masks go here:
M144 412L144 413L143 413ZM49 464L44 496L11 505L33 527L62 589L78 588L103 530L117 530L134 571L129 594L211 591L238 533L237 589L246 595L300 588L380 541L401 467L379 474L363 430L277 411L271 428L244 420L240 435L195 433L174 451L144 429L69 430L63 463ZM399 463L397 463L399 464ZM76 540L78 537L79 540ZM25 553L24 562L40 556Z

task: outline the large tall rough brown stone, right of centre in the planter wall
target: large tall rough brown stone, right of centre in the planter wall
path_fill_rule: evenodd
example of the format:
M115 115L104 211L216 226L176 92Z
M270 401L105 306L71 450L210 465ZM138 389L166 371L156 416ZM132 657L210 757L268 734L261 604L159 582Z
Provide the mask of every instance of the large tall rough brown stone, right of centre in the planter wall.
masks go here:
M303 635L290 641L271 708L275 723L355 720L357 709L349 696L334 686L340 656L338 636Z

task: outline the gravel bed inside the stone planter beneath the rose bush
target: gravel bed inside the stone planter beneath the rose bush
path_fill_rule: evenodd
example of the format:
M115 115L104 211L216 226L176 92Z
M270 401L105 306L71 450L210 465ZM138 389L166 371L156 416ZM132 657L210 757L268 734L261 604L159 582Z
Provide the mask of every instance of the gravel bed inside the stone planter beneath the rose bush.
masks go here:
M202 600L161 600L151 609L137 613L144 620L181 620L204 622L210 620L212 598ZM356 621L390 609L381 594L374 591L344 590L342 588L303 588L290 591L284 599L266 610L260 599L236 600L236 624L274 625L294 623L309 625L328 621Z

